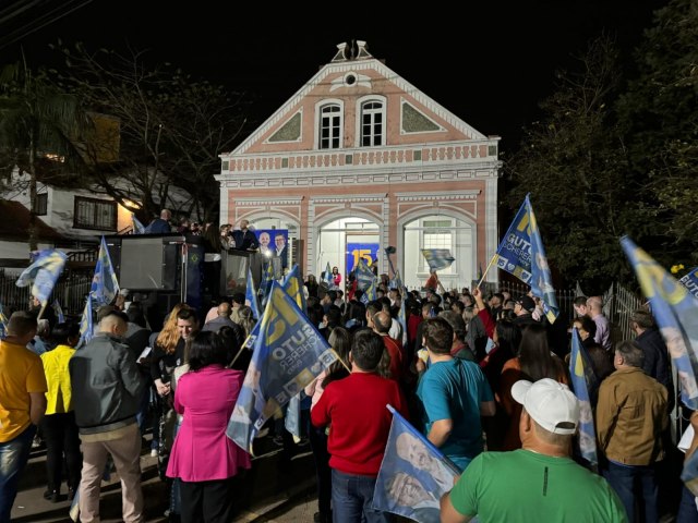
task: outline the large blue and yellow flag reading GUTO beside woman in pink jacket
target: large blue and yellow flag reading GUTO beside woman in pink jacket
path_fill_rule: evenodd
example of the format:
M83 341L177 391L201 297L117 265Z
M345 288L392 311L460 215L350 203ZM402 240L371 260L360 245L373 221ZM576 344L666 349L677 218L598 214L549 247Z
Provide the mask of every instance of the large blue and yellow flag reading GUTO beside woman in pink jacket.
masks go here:
M252 453L252 441L264 423L337 355L277 282L246 345L252 349L252 361L226 435Z

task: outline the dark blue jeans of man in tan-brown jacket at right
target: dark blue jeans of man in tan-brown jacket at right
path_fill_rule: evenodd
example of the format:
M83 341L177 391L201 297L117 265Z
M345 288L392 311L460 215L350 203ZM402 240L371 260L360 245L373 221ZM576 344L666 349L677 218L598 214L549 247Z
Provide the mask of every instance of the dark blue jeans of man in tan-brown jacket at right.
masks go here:
M659 521L657 475L654 465L621 465L609 461L603 472L611 487L615 490L628 514L628 521L635 521L635 497L641 488L641 500L645 506L645 521Z

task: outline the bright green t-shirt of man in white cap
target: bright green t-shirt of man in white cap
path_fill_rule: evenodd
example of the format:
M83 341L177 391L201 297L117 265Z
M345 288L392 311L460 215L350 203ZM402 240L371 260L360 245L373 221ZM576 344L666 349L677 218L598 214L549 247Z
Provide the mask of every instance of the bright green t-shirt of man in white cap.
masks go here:
M480 523L627 523L623 503L601 476L569 458L530 450L484 452L450 492L454 508Z

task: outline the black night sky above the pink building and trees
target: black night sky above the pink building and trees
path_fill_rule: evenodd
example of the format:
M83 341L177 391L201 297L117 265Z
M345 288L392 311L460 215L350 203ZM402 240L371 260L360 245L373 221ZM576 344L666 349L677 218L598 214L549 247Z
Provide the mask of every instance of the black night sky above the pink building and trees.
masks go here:
M502 136L506 150L538 117L555 70L569 68L604 29L628 57L665 0L408 2L402 12L383 3L0 0L0 63L15 61L20 45L29 64L44 63L59 37L115 50L128 42L149 49L153 61L253 94L253 117L263 121L333 58L337 44L361 39L438 104Z

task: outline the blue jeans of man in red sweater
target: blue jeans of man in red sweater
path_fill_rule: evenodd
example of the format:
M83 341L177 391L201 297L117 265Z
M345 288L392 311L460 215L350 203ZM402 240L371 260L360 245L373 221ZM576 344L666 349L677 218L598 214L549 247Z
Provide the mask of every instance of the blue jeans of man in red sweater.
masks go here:
M372 508L375 477L332 470L333 523L390 523L392 514Z

